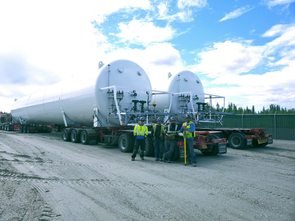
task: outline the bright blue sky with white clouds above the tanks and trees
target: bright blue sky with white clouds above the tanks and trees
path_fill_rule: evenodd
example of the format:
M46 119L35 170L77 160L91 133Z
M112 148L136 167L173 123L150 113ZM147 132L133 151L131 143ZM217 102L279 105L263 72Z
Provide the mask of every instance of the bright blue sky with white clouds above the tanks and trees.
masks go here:
M205 93L295 108L295 0L1 1L0 110L98 62L152 81L191 70Z

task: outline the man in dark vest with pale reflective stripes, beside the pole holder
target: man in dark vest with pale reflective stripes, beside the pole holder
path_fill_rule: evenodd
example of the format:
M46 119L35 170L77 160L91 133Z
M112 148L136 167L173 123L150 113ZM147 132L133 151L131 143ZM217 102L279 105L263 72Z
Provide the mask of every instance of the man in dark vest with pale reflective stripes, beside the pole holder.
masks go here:
M171 117L170 124L168 124L164 129L165 135L165 154L163 161L167 160L167 163L171 163L171 156L174 152L176 141L175 137L177 136L178 125L175 123L175 118Z

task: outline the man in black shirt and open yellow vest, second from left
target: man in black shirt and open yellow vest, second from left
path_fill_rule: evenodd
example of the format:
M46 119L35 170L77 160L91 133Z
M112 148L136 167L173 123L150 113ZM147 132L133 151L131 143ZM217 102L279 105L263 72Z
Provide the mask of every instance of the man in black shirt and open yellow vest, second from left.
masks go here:
M163 161L164 128L165 126L162 124L162 119L159 117L157 119L157 124L153 125L151 132L151 136L154 140L155 161Z

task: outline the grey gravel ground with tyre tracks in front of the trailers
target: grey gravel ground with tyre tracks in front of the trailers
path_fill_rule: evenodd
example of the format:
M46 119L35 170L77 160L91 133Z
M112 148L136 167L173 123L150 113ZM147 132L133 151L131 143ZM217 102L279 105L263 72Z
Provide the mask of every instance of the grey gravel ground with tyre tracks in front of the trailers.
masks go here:
M0 131L0 220L295 220L295 142L204 156L197 167L61 134Z

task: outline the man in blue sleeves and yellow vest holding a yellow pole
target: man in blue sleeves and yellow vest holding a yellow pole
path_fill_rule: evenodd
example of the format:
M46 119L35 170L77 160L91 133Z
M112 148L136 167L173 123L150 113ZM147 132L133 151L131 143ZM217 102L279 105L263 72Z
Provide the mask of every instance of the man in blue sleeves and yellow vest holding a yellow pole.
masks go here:
M197 165L196 153L194 151L194 137L195 133L195 124L191 121L191 115L187 114L186 122L182 124L179 132L183 132L183 136L186 138L186 144L189 146L189 151L186 151L188 161L186 164L193 163L193 166Z

